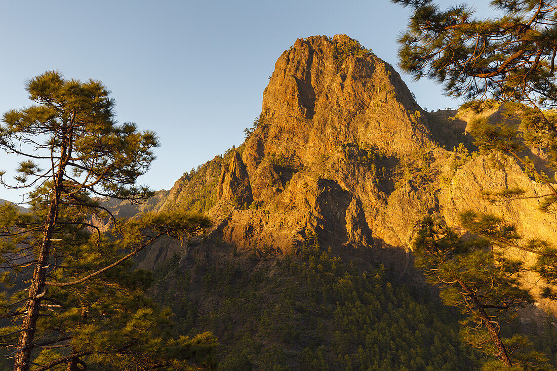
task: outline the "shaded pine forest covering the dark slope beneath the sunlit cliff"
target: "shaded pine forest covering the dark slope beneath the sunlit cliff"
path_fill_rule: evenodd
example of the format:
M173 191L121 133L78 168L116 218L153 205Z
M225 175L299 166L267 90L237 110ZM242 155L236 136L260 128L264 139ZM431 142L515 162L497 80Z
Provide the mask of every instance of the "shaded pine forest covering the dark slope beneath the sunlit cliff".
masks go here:
M308 236L298 257L155 270L179 331L218 335L219 370L477 370L453 311L383 267L364 271Z

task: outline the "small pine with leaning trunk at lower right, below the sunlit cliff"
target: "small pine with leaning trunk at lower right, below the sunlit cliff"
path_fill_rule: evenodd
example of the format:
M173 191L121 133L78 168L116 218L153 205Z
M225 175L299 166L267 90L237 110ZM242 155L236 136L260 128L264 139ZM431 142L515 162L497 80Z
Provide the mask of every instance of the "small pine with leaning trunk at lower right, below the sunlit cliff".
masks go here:
M475 215L463 216L474 231L487 231L507 240L516 240L514 228L494 228L494 218L477 220ZM553 369L543 355L531 349L525 336L503 338L501 322L509 321L521 307L531 306L534 299L522 289L523 264L505 257L483 238L466 241L458 238L444 221L428 217L414 240L414 251L428 280L441 288L441 297L448 305L458 306L467 318L462 321L463 338L481 348L495 360L485 369L496 365L518 366L517 369Z

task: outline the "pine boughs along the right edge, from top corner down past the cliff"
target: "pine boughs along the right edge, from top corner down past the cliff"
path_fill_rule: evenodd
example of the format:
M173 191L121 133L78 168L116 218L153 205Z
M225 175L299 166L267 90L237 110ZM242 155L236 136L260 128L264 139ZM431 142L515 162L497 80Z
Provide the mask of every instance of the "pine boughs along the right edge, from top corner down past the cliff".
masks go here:
M557 2L493 0L496 15L487 18L475 17L465 3L442 11L433 0L392 2L413 9L408 30L399 38L404 71L438 82L448 95L464 97L467 106L481 110L495 103L521 119L519 126L478 119L471 123L471 134L494 165L518 163L545 192L490 189L478 197L494 203L537 198L541 211L556 212L557 187L544 170L557 170ZM527 157L530 148L546 154L545 169ZM537 255L535 265L524 269L545 281L542 296L557 299L557 249L551 243L523 238L516 226L493 214L467 211L461 224L501 250Z

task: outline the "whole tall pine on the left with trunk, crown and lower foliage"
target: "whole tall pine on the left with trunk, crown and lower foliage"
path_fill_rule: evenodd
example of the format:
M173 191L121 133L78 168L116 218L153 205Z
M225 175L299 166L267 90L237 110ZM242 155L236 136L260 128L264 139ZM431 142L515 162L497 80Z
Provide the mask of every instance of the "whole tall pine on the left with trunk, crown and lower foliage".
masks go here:
M149 275L131 271L129 258L161 236L192 236L211 222L180 212L123 221L98 199L152 196L135 181L154 159L157 136L116 123L114 100L99 81L50 71L26 89L35 104L8 111L0 125L0 147L23 158L16 183L0 182L23 189L30 207L22 213L6 204L0 212L0 341L14 370L204 362L214 338L173 339L170 314L143 294ZM102 232L94 218L109 218L111 230Z

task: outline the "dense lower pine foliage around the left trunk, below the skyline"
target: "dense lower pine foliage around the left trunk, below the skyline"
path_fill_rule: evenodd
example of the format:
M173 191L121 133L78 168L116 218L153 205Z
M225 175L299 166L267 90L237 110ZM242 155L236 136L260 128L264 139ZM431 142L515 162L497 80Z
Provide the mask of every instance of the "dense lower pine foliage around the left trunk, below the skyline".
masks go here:
M31 212L18 215L13 206L3 206L2 215L9 217L2 222L17 230L22 225L19 223L35 225L32 221L40 219L37 207L35 203ZM65 221L76 216L67 207L61 207L58 213L59 220ZM209 333L173 337L170 312L159 309L144 294L152 282L151 275L130 270L131 263L123 256L123 252L131 250L133 255L138 246L154 241L145 236L164 233L182 238L210 224L202 216L165 212L145 214L121 223L117 226L118 233L112 236L91 235L83 228L58 228L52 236L57 243L52 248L45 290L48 295L43 296L37 330L40 344L58 345L65 341L67 345L62 343L53 349L38 347L32 354L33 362L48 365L63 361L67 356L65 348L71 346L76 359L93 368L129 369L138 363L146 367L159 363L165 367L187 368L192 360L200 366L210 366L216 339ZM18 241L18 248L25 248L26 241L36 241L41 231L37 232L28 231L25 240ZM8 243L5 238L2 241ZM8 291L4 291L6 301L0 303L0 315L17 320L13 314L25 309L22 306L25 301L21 300L26 297L26 290L13 289L21 287L18 282L27 277L30 271L26 267L4 271L3 289ZM6 295L8 292L11 297ZM4 324L0 334L17 331L17 322L14 323ZM17 332L2 336L2 345L12 349L16 336Z

